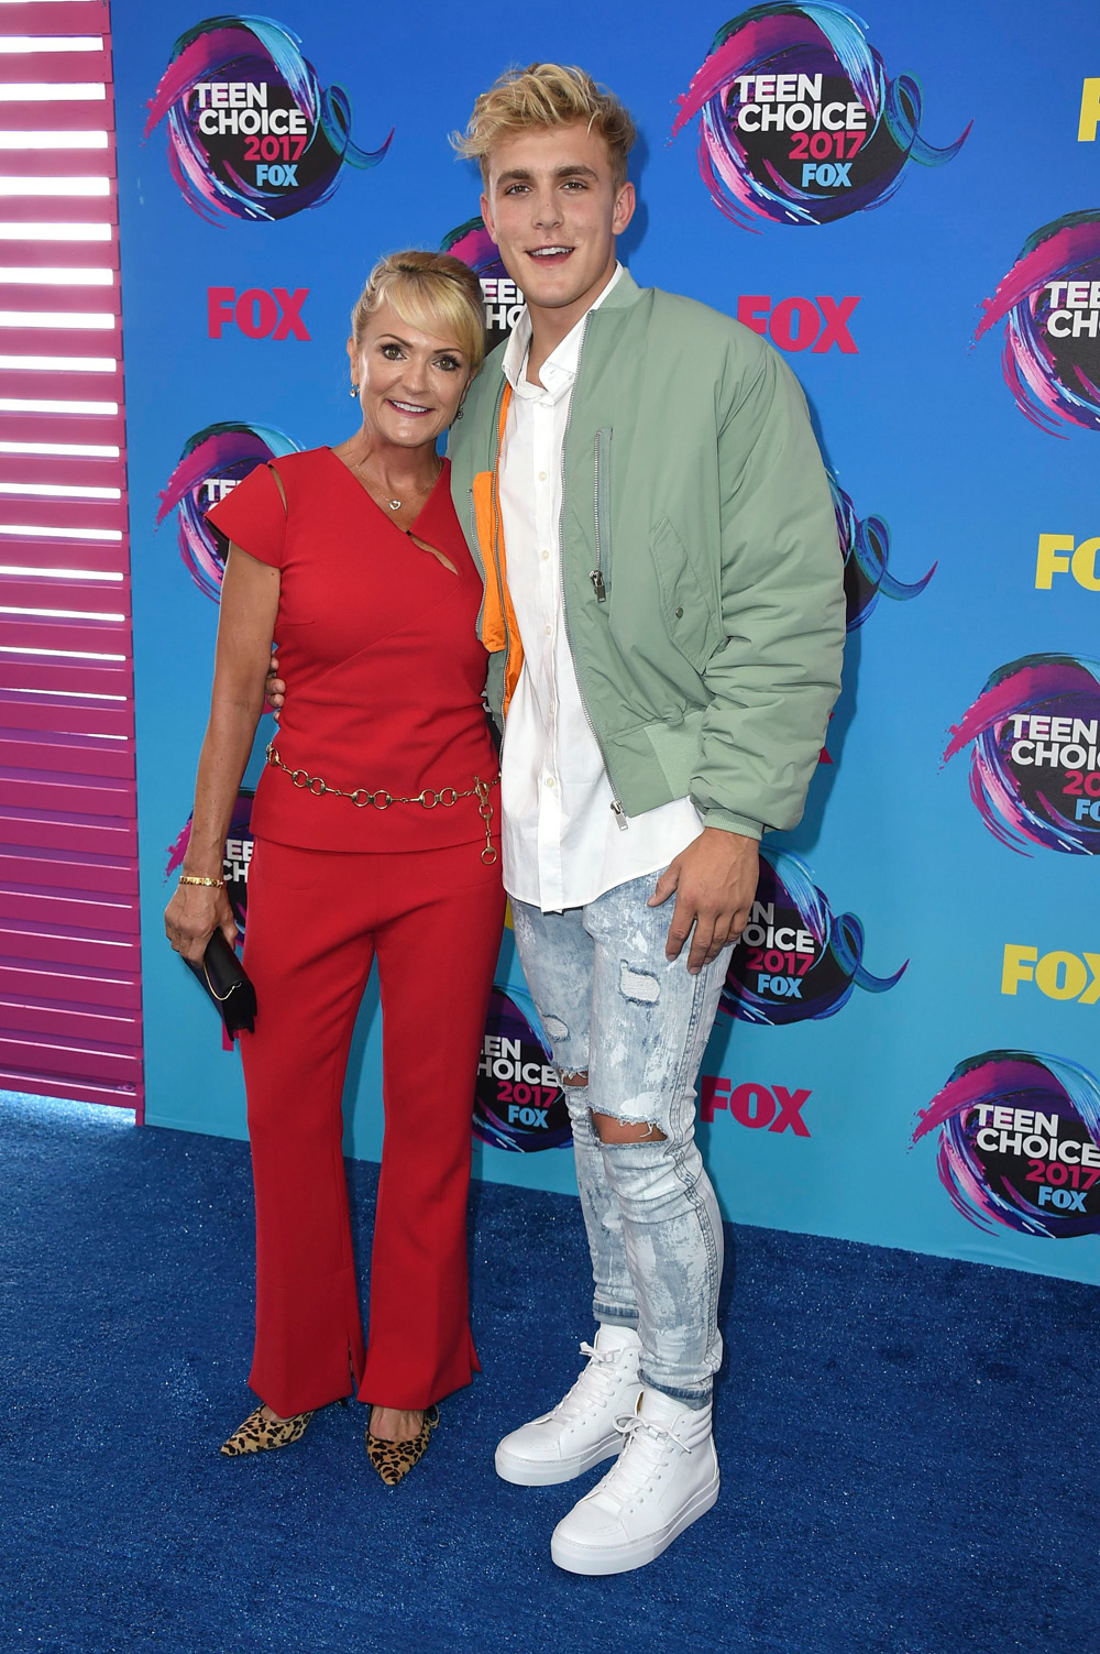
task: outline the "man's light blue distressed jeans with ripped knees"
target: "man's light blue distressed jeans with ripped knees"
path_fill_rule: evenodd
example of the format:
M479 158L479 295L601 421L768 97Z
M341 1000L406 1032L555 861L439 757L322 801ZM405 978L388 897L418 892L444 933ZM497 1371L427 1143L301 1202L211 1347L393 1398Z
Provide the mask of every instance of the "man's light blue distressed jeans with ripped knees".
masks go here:
M721 1361L721 1217L695 1145L695 1080L731 948L688 976L665 958L673 900L657 873L582 908L513 901L516 948L566 1085L597 1322L637 1327L642 1383L703 1408ZM592 1113L665 1140L600 1143Z

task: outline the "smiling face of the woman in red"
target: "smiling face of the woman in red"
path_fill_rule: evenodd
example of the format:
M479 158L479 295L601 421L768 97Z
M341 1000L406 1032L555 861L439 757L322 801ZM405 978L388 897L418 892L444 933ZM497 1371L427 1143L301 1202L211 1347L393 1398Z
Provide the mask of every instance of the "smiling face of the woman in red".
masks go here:
M399 448L435 443L470 384L470 357L442 334L420 332L384 303L356 346L347 341L364 427Z

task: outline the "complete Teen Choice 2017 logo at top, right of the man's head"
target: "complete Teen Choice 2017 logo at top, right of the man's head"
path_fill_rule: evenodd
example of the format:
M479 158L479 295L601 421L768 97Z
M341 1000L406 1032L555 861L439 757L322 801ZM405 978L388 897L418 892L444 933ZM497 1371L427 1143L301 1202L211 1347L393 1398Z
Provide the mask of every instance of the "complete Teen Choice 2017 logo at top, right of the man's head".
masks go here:
M769 0L725 23L680 98L673 137L696 114L703 182L744 230L880 207L910 160L938 167L969 134L946 149L921 137L920 83L888 79L867 23L825 0Z

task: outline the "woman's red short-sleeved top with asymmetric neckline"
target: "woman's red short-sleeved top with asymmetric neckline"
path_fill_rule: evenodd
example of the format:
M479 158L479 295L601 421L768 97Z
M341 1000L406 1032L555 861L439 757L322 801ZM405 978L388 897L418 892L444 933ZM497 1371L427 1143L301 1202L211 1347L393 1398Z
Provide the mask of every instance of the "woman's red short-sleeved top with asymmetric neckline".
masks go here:
M286 504L271 471L278 471ZM288 769L351 792L397 796L493 781L481 691L481 577L450 498L450 465L414 523L458 571L417 546L331 448L260 465L207 513L237 546L280 569L275 629L286 706L275 746ZM490 792L500 830L500 789ZM313 796L265 766L253 832L308 850L418 850L485 844L476 797L450 809L356 807Z

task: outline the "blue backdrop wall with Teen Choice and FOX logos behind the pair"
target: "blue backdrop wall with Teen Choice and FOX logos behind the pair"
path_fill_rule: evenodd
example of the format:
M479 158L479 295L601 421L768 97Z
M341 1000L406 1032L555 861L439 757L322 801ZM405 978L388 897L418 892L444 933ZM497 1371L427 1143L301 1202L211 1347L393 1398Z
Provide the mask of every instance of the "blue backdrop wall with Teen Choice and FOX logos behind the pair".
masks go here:
M1100 1280L1095 0L114 0L114 40L149 1120L245 1131L160 925L217 624L202 511L351 433L347 311L380 253L448 246L493 327L514 319L448 134L505 66L582 63L642 132L625 261L784 352L845 554L844 693L703 1064L726 1214ZM255 774L227 845L242 916ZM379 1032L372 994L367 1158ZM480 1174L571 1189L511 936L481 1070Z

